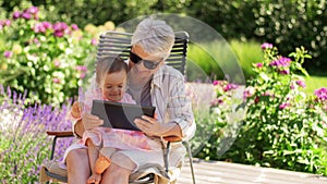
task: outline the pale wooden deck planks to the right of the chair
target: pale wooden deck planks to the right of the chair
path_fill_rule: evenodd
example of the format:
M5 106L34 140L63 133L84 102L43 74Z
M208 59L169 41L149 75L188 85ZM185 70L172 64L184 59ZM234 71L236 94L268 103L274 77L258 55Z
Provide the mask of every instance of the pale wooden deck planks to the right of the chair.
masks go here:
M239 163L194 159L193 167L196 184L327 184L327 177L316 174ZM187 161L177 183L192 184Z

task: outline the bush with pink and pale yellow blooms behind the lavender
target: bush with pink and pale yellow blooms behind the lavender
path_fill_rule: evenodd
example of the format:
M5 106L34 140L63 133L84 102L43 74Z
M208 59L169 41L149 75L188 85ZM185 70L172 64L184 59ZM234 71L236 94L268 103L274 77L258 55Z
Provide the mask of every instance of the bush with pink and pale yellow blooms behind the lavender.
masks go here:
M31 7L2 20L0 28L0 84L11 86L37 102L62 103L74 97L85 77L85 63L95 60L93 35L76 24L45 21Z

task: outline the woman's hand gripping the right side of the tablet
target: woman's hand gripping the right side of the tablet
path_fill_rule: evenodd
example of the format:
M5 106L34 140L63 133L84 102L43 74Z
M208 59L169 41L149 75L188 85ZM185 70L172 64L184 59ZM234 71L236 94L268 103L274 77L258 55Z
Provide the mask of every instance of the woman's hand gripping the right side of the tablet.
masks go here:
M134 123L148 136L166 136L166 133L175 126L175 123L159 123L156 115L155 118L142 115L142 119L135 119Z

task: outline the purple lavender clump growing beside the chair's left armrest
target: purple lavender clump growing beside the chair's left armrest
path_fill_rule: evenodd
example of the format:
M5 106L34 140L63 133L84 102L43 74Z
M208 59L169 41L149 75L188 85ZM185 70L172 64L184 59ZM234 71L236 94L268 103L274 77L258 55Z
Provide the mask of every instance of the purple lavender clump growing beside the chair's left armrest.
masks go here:
M2 93L1 97L4 98L4 101L9 101L7 105L0 103L1 110L21 109L23 112L20 115L20 113L11 111L14 119L9 122L9 130L1 132L1 136L5 136L5 143L11 145L11 147L0 151L1 162L4 165L4 171L12 171L8 175L2 174L2 176L12 183L14 180L22 181L22 175L29 175L31 179L28 177L29 182L27 183L31 183L31 181L37 180L40 162L47 158L47 152L50 149L51 137L45 136L45 132L71 130L71 122L65 116L69 108L62 106L53 109L51 106L37 103L33 107L25 107L25 95L17 95L10 87L7 87L7 94ZM35 139L35 137L37 138ZM56 152L60 154L57 156L62 157L71 143L71 138L61 139L56 146ZM23 156L24 159L13 156Z

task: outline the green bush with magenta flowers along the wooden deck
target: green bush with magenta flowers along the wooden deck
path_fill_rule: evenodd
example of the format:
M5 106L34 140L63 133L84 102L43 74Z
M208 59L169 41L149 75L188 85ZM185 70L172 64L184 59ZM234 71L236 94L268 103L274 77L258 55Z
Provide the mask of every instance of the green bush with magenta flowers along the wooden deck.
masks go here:
M246 116L242 124L235 124L237 139L225 155L219 155L226 128L219 130L211 137L210 147L206 147L210 149L209 159L327 175L327 88L311 96L300 90L305 83L298 73L306 74L302 64L310 58L303 48L289 56L293 59L279 56L269 44L263 45L263 49L265 59L253 64L256 75L247 81L243 94ZM217 102L213 106L219 112L216 122L222 119L228 125L228 107L235 105L229 94L240 91L240 87L216 82L216 90Z

